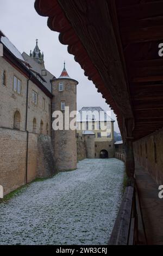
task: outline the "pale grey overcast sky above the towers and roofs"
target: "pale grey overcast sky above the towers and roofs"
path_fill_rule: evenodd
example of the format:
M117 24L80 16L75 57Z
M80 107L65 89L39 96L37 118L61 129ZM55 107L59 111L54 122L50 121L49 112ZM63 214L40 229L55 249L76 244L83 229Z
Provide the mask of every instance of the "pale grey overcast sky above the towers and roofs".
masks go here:
M33 50L36 38L44 53L45 67L57 78L66 61L66 69L71 78L79 81L77 88L77 109L82 106L101 106L110 110L102 94L84 75L84 70L67 52L67 46L59 42L59 33L47 27L47 17L39 16L34 9L34 0L0 0L0 29L22 53ZM111 117L116 120L113 112ZM119 131L117 122L115 130Z

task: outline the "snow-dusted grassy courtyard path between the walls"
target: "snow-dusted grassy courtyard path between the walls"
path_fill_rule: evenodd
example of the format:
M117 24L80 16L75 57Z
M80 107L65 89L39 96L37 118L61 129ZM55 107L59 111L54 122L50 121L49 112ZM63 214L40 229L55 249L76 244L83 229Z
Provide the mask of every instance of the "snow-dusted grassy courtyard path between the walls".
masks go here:
M106 245L121 200L124 164L85 159L0 204L0 245Z

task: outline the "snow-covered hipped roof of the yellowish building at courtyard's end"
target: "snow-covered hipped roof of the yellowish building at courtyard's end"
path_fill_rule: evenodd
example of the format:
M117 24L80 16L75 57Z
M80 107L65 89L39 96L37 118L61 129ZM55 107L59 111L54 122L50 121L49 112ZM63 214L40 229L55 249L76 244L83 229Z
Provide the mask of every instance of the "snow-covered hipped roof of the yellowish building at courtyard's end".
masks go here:
M77 114L77 122L92 122L92 121L111 121L115 122L110 115L101 108L101 106L83 107Z

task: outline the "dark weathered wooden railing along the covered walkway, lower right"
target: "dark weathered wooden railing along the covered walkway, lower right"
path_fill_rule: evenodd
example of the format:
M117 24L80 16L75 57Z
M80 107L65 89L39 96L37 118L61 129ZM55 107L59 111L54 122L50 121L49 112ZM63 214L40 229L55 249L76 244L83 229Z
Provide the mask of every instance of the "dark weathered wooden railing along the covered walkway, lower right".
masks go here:
M139 214L137 214L139 212ZM139 216L139 222L138 222ZM138 223L142 223L143 242L139 241ZM145 226L136 187L127 187L112 230L109 245L147 245Z

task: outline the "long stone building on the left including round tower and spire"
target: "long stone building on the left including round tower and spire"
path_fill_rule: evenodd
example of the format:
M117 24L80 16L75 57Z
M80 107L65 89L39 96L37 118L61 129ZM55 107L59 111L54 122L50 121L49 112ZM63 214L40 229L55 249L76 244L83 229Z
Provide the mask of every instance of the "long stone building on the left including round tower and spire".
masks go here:
M76 169L76 131L55 134L52 112L64 112L63 105L76 110L78 82L65 67L59 79L48 72L37 40L30 55L21 55L0 36L0 185L7 194L37 177Z

